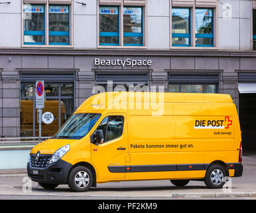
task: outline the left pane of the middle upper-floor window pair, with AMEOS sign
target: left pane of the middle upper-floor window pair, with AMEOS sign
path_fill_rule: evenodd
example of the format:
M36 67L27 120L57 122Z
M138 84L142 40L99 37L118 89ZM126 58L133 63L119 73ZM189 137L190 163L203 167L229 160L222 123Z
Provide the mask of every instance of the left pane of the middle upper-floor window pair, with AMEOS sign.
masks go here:
M119 45L118 7L99 7L99 45Z

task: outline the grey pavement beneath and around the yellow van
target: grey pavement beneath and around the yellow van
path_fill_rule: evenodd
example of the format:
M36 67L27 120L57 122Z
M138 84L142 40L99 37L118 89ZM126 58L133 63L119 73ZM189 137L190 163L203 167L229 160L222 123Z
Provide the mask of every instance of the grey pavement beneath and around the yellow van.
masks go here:
M246 154L243 156L243 176L231 178L231 188L227 190L206 188L204 182L191 181L185 187L173 186L169 180L149 180L149 181L127 181L127 182L107 182L98 184L97 188L91 188L89 192L74 193L67 185L60 185L55 190L45 190L32 183L32 192L23 192L23 178L26 173L0 174L0 195L17 196L57 196L83 198L145 198L145 199L165 199L165 198L221 198L240 197L256 198L256 155Z

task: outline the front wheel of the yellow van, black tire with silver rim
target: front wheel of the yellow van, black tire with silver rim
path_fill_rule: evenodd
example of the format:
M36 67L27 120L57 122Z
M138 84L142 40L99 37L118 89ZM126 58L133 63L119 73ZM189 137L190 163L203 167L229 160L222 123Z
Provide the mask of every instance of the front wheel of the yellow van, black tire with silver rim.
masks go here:
M69 173L68 184L74 192L86 192L93 184L93 174L89 168L77 166Z

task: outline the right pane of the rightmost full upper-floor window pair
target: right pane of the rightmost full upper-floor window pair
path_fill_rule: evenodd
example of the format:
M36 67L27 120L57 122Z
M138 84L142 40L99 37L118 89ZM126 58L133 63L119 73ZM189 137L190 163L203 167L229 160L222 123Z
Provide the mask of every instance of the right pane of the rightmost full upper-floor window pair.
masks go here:
M195 46L213 47L213 9L195 9Z

